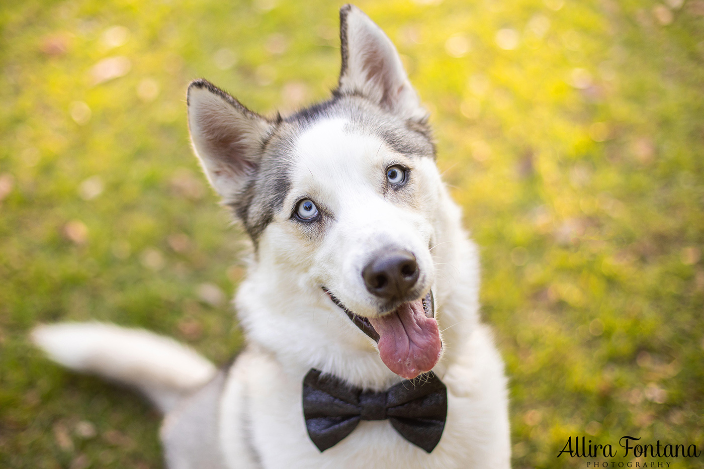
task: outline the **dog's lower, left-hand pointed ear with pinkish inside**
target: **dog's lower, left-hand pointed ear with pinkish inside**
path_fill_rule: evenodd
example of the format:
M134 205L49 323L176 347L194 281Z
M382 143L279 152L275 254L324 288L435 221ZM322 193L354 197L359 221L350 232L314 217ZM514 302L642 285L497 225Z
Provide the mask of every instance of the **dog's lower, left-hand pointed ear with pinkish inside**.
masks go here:
M191 82L187 103L196 156L215 191L233 202L256 173L273 124L206 80Z

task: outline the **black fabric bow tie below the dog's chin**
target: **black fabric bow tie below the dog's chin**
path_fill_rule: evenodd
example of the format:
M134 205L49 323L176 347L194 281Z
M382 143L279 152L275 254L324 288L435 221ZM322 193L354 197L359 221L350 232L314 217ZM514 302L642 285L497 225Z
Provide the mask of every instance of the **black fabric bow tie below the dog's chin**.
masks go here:
M303 416L320 451L334 446L360 420L389 419L396 431L428 453L440 441L447 417L447 388L435 373L403 380L386 392L363 392L311 368L303 378Z

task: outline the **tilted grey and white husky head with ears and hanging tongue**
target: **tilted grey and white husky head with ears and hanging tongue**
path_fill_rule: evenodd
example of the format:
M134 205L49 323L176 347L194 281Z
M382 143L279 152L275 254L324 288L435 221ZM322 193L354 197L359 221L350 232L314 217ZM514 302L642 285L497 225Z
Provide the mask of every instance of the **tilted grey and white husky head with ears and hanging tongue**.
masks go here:
M265 281L336 304L389 369L415 377L442 349L432 249L444 189L427 113L394 45L358 8L340 18L332 99L267 119L196 80L191 139L258 265L269 266Z

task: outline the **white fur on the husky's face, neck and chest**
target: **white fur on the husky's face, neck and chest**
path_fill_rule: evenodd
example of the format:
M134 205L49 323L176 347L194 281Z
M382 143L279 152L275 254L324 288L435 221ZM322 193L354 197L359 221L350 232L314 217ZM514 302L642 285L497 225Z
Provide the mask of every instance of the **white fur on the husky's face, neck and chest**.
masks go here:
M301 241L295 225L276 220L239 289L237 309L251 346L230 373L221 439L229 467L244 465L240 415L265 468L506 468L510 461L503 363L477 315L477 254L460 226L434 164L413 161L425 198L399 208L370 182L399 158L379 139L322 121L298 139L288 204L305 194L325 201L336 223L322 242ZM436 247L432 256L429 241ZM360 315L373 315L359 275L368 253L387 244L411 249L436 295L444 356L434 371L448 387L448 420L432 454L403 440L388 422L363 422L320 453L308 441L301 377L318 368L361 387L386 389L400 378L380 361L376 344L320 292L334 289ZM367 254L365 256L364 254ZM243 407L244 406L244 407Z

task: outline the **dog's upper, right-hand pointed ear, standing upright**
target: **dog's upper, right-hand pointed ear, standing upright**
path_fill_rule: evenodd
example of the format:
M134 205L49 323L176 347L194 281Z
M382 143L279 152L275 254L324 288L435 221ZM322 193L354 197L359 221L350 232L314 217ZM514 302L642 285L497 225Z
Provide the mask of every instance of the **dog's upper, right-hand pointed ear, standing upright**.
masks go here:
M425 120L396 47L359 8L340 8L342 66L337 91L362 94L401 118Z

